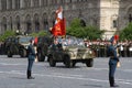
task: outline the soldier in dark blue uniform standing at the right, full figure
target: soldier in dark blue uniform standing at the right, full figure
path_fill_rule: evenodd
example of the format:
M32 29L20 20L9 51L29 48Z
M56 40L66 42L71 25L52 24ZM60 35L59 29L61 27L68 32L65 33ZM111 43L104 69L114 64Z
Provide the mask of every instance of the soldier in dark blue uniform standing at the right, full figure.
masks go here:
M119 62L119 57L117 54L117 41L114 40L114 37L111 37L110 40L111 45L108 47L108 53L110 56L109 59L109 82L110 82L110 87L119 87L118 85L114 84L114 73L116 73L116 68L117 68L117 64Z

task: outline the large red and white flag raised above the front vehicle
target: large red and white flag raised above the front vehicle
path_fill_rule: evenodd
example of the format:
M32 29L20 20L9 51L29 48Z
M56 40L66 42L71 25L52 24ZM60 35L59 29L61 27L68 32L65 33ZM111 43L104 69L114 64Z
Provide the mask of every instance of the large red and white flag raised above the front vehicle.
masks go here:
M65 19L63 18L62 7L59 7L58 10L56 10L56 21L55 21L55 25L52 29L52 33L54 36L66 34Z

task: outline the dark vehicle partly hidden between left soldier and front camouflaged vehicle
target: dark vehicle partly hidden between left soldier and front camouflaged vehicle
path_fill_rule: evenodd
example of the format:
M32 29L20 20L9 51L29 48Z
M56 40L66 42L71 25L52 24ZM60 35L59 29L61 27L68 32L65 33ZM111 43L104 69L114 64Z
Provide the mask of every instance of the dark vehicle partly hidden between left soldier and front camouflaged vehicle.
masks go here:
M52 38L50 36L37 37L37 59L38 62L44 62L45 56L47 56L47 48L52 44Z

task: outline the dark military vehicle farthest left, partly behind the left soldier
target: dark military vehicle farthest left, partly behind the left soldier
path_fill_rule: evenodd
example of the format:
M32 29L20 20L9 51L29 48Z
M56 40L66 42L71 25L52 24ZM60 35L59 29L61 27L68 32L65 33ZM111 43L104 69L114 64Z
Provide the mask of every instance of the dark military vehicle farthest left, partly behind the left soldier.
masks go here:
M25 57L28 55L28 45L31 38L31 36L8 37L6 42L8 57L12 57L12 55Z

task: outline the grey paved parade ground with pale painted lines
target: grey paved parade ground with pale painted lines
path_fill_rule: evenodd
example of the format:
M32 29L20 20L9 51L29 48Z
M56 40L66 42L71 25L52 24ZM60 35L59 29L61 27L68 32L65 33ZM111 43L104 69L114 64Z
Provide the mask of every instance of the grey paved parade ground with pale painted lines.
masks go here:
M0 88L110 88L108 62L108 57L100 57L95 58L94 67L78 63L74 68L66 68L62 63L50 67L47 62L37 62L33 66L35 79L26 79L26 58L1 55ZM116 82L119 88L132 88L132 58L121 57Z

